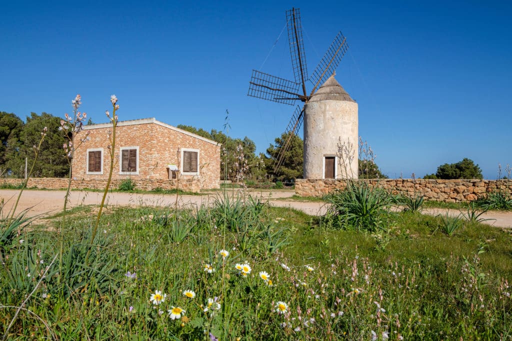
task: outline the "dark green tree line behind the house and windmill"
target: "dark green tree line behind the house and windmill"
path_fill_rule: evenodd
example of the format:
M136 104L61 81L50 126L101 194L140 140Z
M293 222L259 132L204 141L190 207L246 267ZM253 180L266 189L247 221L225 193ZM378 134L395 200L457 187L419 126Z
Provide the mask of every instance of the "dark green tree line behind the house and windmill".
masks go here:
M25 176L25 159L30 162L34 158L34 146L40 139L44 127L48 128L47 137L43 142L33 176L65 177L69 174L69 163L62 145L67 139L59 130L60 118L51 113L42 112L38 115L31 112L26 122L14 113L0 111L0 177ZM88 124L93 122L89 120ZM300 137L294 135L290 147L284 155L283 165L274 171L274 162L279 155L288 135L283 133L270 144L266 153L256 154L256 145L248 137L232 138L223 131L178 125L180 129L198 134L204 138L222 144L220 178L241 182L252 181L293 181L303 177L304 146ZM361 153L359 153L361 154ZM379 167L370 160L359 160L360 178L387 178ZM468 179L483 178L482 171L472 160L464 158L454 164L443 164L435 174L424 176L425 179Z

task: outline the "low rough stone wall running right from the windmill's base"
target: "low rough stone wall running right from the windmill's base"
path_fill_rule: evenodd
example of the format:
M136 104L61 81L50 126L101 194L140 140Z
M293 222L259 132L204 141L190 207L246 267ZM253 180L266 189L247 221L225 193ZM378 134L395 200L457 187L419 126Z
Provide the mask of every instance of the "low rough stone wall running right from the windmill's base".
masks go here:
M486 193L504 190L512 192L512 180L431 180L431 179L359 179L393 194L423 194L427 200L444 202L473 201ZM295 193L301 196L321 197L343 190L346 180L296 179Z

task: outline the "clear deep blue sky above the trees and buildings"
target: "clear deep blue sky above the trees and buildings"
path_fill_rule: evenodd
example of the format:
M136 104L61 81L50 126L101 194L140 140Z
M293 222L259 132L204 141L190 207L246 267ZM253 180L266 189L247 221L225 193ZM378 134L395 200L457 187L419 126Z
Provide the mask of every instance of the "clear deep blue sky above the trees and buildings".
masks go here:
M511 2L2 2L0 110L120 120L252 139L258 152L293 107L248 97L252 69L293 79L285 10L300 8L310 74L338 31L336 79L359 105L359 135L390 177L470 157L485 178L512 164ZM274 45L275 43L275 45ZM268 58L267 58L268 56ZM311 85L309 85L311 89Z

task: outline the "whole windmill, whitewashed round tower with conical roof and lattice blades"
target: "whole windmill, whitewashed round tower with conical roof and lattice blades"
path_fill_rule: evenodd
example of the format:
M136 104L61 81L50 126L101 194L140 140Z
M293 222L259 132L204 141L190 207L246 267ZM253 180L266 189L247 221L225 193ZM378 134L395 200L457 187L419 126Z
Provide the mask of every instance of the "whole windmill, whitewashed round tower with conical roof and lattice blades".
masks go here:
M296 100L305 103L302 108L296 106L286 127L287 140L275 158L274 172L282 166L290 142L304 122L304 178L357 178L357 104L334 79L336 67L347 52L347 40L338 32L308 79L298 9L286 11L286 20L295 81L252 70L247 94L289 105ZM306 80L313 84L309 95Z

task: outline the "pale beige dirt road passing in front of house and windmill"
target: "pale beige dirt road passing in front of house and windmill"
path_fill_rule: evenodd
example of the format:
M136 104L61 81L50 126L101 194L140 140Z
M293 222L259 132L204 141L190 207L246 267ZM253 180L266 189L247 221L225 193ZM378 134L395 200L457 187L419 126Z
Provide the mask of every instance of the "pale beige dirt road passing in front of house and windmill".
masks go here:
M0 199L5 202L4 212L8 212L16 201L18 190L0 190ZM233 192L228 192L233 193ZM272 190L272 191L249 191L253 196L261 197L275 207L290 207L303 211L309 215L323 215L326 212L326 206L323 202L296 201L289 199L293 196L292 190ZM25 190L22 198L19 200L17 212L29 209L31 215L48 216L62 210L65 191L46 191L46 190ZM235 192L236 194L236 192ZM103 193L72 191L68 207L80 205L99 204ZM136 193L109 193L106 198L108 206L157 206L174 207L177 203L179 207L189 207L190 205L201 206L214 202L221 192L211 192L206 195L179 195L178 198L173 194L136 194ZM424 209L424 214L446 214L445 209ZM5 213L4 213L5 214ZM457 210L450 210L449 214L457 216L460 214ZM482 215L483 218L493 219L485 223L500 228L512 228L512 212L487 212Z

